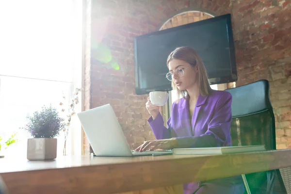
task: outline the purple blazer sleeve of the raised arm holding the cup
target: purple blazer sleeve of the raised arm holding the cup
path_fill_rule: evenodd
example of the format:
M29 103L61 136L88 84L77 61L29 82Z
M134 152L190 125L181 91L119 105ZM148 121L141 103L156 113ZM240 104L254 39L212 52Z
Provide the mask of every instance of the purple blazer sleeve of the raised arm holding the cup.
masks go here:
M158 114L158 116L155 118L155 120L153 120L153 117L150 117L147 120L147 122L148 122L150 128L152 129L157 140L171 138L171 132L170 132L171 127L169 126L170 119L171 118L169 118L169 120L167 122L169 129L167 129L164 126L164 121L163 121L161 113Z

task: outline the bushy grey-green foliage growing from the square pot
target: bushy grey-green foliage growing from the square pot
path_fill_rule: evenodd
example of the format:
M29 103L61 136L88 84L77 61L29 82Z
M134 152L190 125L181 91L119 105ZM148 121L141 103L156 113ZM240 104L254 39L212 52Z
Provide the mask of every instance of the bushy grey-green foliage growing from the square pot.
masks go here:
M51 105L43 106L40 112L36 111L27 117L29 122L23 127L34 138L54 138L64 129L64 119Z

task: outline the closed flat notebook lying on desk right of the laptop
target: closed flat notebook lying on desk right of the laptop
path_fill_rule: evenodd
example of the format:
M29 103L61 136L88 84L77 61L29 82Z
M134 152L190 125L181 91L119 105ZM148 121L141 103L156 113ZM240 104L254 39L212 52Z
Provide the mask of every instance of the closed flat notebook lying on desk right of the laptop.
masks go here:
M199 147L199 148L177 148L173 149L174 155L189 155L189 154L229 154L251 151L264 151L265 145L258 146L226 146L226 147Z

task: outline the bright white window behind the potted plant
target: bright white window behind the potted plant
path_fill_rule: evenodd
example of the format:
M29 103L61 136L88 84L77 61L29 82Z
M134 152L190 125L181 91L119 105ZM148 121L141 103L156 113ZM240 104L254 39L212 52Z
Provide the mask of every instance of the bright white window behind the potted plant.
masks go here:
M81 21L82 1L0 1L5 29L0 31L0 135L4 139L17 131L20 140L7 149L7 156L26 155L30 135L19 129L26 116L43 105L61 110L62 97L69 100L74 88L81 87ZM63 143L61 133L58 156Z

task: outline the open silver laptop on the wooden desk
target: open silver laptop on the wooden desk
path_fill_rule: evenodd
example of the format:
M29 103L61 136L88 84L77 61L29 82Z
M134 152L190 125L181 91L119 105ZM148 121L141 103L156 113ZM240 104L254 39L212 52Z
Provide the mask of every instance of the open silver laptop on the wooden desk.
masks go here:
M77 113L96 156L158 156L172 154L171 150L130 150L126 137L110 104Z

